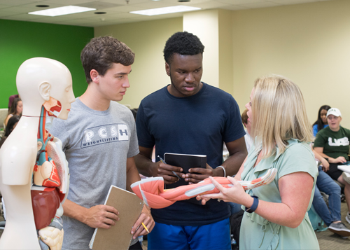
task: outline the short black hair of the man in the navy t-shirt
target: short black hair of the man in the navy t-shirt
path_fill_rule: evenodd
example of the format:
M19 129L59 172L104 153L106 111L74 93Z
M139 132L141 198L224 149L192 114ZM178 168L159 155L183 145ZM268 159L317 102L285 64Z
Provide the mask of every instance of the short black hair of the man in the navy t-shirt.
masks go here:
M180 55L197 55L204 52L204 46L200 39L189 32L176 32L165 43L163 50L165 62L172 61L174 53Z

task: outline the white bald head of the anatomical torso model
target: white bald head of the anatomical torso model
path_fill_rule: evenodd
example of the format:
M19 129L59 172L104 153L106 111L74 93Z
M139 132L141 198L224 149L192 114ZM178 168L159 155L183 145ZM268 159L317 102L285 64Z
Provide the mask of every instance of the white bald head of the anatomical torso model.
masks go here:
M68 117L75 97L69 69L56 60L34 57L22 63L17 72L17 89L23 102L23 116L39 116L41 106L61 104L57 118Z

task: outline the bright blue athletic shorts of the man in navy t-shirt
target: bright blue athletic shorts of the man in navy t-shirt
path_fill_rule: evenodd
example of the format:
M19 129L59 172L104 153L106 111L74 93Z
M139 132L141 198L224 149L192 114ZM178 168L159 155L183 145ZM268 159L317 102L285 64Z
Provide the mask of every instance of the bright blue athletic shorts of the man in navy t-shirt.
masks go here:
M155 223L147 239L148 250L231 250L230 218L195 226Z

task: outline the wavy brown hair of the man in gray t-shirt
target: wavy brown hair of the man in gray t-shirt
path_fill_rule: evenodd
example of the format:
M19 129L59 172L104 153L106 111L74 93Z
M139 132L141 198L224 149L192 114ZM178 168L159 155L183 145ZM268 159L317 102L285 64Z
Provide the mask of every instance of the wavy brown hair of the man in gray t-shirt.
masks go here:
M100 36L91 39L81 51L80 60L83 64L87 83L91 83L90 71L95 69L101 76L111 69L113 63L129 66L134 63L135 54L123 42L112 36Z

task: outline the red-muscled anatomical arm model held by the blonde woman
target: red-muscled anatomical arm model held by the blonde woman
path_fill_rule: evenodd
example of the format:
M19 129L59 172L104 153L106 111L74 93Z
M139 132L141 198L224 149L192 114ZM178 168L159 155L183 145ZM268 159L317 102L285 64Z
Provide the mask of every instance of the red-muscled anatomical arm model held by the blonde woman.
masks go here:
M258 179L238 182L244 190L258 188L273 181L276 173L277 169L268 169L267 173L264 176L260 176ZM231 188L233 186L232 182L226 177L214 177L214 179L224 188ZM188 200L197 195L220 193L209 178L192 185L164 189L163 177L151 177L133 183L131 188L140 199L144 200L144 202L153 209L169 207L176 201Z

